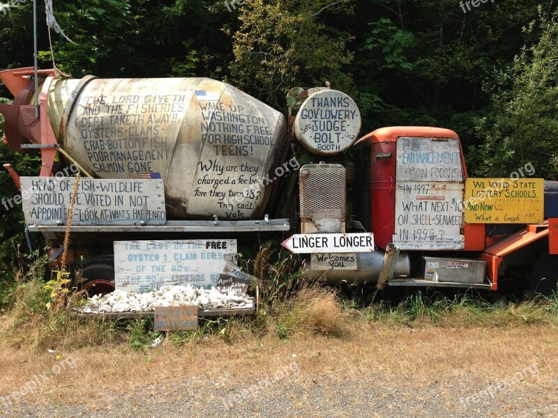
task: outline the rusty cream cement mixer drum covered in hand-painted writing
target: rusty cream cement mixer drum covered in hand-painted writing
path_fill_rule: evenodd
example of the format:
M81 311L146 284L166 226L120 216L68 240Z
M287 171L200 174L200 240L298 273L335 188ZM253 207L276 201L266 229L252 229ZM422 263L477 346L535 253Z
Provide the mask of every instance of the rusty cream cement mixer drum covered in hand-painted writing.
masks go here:
M93 176L165 180L178 219L262 217L286 139L280 112L207 78L61 79L48 114Z

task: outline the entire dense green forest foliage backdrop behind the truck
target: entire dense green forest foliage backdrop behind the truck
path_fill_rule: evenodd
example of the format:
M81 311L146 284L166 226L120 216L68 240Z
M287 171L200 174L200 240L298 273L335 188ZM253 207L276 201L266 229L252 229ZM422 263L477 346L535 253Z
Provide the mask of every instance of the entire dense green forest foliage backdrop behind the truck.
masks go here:
M50 68L39 6L40 65ZM327 80L358 102L362 134L387 125L448 127L468 150L469 174L508 176L530 161L536 176L558 178L554 1L502 0L467 13L456 0L234 6L55 0L56 19L75 44L52 33L54 61L73 77L213 77L281 110L289 88ZM32 22L31 1L0 13L1 68L32 65ZM10 98L3 86L0 97ZM20 174L38 173L36 157L1 145L0 157ZM5 171L0 184L0 198L15 194ZM22 242L21 207L0 206L0 221L0 258L9 266Z

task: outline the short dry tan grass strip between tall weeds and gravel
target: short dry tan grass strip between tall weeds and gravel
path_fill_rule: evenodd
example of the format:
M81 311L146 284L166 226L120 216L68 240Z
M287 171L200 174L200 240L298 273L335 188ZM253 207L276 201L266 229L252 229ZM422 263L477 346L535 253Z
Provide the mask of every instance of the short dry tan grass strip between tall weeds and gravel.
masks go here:
M557 378L558 332L549 325L532 327L386 328L363 327L347 339L299 333L288 341L268 335L228 345L219 336L176 348L169 339L162 346L138 353L128 346L81 348L71 353L36 353L0 343L0 395L21 387L56 364L54 355L76 361L74 370L60 373L45 385L33 402L88 402L107 394L132 394L139 387L196 378L223 381L229 387L246 384L250 376L266 376L296 361L304 379L366 379L425 387L432 382L459 385L486 383L513 376L536 362L541 385ZM293 357L296 356L296 357ZM249 371L247 375L247 371Z

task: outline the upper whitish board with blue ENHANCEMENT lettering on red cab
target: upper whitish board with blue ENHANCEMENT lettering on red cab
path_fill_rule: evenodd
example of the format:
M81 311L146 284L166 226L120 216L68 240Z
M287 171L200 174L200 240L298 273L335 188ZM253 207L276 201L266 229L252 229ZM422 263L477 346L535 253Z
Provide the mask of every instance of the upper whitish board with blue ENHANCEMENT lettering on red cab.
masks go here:
M463 181L458 139L399 138L397 180Z

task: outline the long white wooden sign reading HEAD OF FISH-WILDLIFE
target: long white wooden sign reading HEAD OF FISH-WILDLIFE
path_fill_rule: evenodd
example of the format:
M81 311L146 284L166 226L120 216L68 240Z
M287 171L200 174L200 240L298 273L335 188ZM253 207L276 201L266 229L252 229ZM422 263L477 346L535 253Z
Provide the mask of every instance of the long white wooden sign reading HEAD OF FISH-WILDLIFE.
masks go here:
M75 177L22 177L25 222L66 224ZM165 224L163 180L80 178L73 225Z

